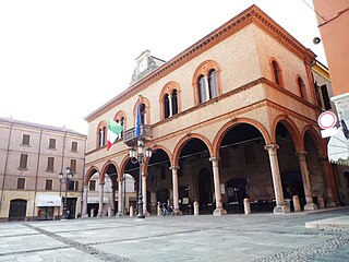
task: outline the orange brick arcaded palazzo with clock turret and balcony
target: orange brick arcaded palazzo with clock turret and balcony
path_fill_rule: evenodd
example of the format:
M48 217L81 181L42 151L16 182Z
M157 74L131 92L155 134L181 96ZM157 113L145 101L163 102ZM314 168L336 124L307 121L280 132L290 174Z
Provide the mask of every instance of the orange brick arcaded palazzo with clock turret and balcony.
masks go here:
M298 195L302 209L338 204L337 184L316 119L315 53L252 5L165 62L143 52L129 88L89 114L83 215L89 179L99 177L98 214L106 178L125 212L123 178L137 191L140 167L129 157L135 115L153 155L142 165L143 210L156 213L170 202L178 214L252 211L289 212ZM322 79L321 74L316 78ZM109 119L124 127L106 150ZM119 201L121 200L121 201Z

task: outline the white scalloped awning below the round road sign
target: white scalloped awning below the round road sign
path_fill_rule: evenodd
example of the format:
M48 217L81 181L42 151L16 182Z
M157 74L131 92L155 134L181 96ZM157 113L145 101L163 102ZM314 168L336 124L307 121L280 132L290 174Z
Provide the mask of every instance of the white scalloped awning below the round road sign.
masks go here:
M337 134L330 136L327 150L329 162L349 166L349 140L341 129L338 129Z

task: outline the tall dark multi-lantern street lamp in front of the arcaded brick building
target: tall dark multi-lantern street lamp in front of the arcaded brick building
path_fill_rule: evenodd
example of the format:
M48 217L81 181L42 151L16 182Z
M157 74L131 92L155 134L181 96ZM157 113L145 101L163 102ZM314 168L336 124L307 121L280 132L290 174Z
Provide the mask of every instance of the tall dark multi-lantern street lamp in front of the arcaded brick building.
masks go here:
M145 150L144 157L144 141L140 138L137 140L137 156L135 156L135 148L131 147L129 150L129 156L131 158L132 164L139 163L140 165L140 182L139 182L139 214L137 218L145 218L143 214L143 195L142 195L142 165L145 163L145 159L152 157L152 150L147 147Z

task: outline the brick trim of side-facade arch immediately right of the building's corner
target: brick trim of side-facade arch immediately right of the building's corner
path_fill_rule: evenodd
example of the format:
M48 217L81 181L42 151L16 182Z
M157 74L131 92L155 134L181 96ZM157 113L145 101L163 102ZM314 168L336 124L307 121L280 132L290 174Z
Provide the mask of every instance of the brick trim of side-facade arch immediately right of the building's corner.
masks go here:
M278 123L282 123L286 129L289 131L291 139L293 141L296 151L303 151L304 147L301 143L301 134L296 126L296 123L287 116L287 115L279 115L274 119L272 124L272 141L276 142L276 127Z

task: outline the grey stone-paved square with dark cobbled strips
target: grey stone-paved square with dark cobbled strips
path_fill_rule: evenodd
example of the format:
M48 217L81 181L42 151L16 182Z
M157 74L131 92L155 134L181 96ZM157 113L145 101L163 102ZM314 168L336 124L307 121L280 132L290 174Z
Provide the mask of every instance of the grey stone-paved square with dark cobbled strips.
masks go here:
M85 218L0 224L0 261L349 261L349 209L286 215Z

